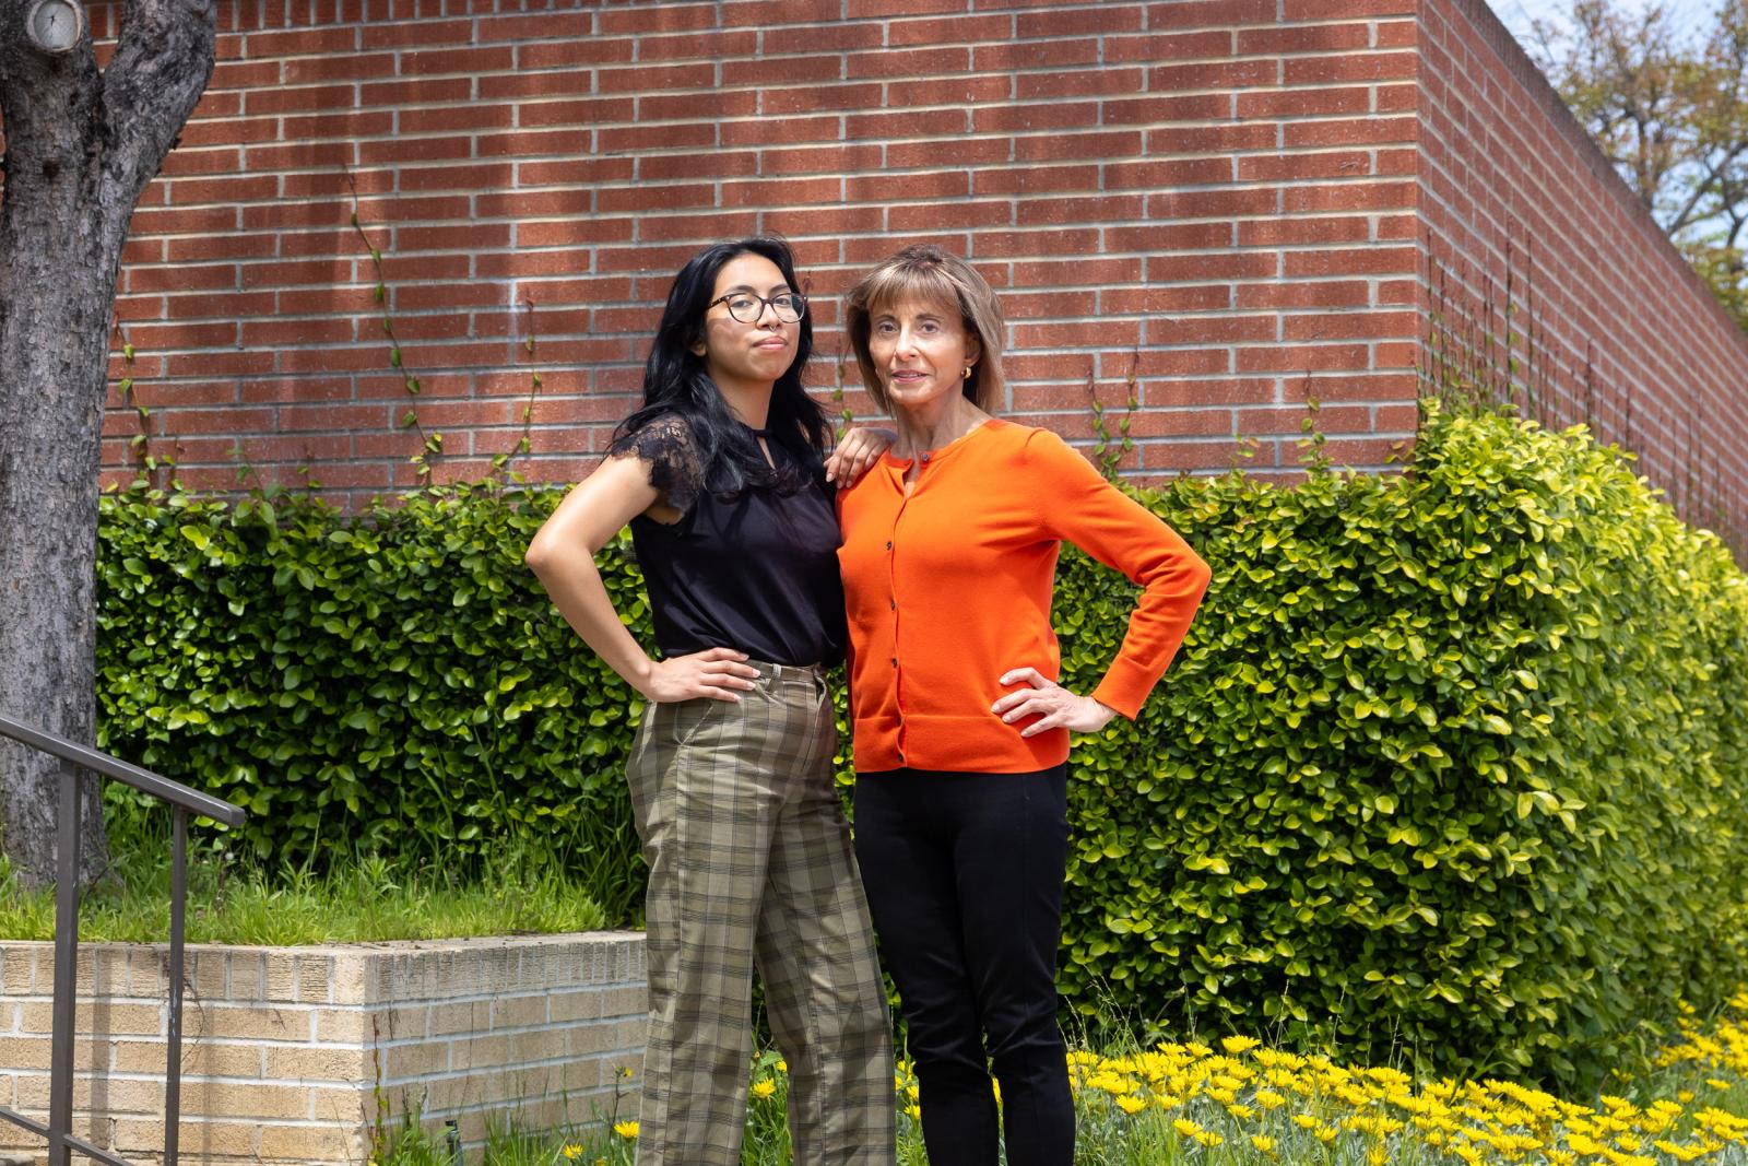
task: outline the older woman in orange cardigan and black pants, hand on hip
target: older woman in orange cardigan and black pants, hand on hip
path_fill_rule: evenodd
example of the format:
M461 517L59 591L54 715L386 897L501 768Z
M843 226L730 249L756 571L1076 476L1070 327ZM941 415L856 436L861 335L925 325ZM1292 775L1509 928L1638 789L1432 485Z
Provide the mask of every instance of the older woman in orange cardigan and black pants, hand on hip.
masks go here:
M1056 1024L1068 734L1134 717L1208 586L1194 551L1059 437L989 414L989 285L912 246L850 294L864 383L898 441L837 496L857 857L902 996L937 1166L1070 1166ZM1063 540L1141 584L1087 696L1056 684ZM998 1117L989 1065L1002 1086Z

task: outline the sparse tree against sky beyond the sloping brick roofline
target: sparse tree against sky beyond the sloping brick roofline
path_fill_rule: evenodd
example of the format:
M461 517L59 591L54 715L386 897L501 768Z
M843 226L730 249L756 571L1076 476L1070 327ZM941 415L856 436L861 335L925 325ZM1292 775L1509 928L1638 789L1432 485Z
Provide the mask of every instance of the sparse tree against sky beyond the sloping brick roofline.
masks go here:
M1683 30L1666 3L1570 0L1535 21L1530 54L1748 329L1748 0Z

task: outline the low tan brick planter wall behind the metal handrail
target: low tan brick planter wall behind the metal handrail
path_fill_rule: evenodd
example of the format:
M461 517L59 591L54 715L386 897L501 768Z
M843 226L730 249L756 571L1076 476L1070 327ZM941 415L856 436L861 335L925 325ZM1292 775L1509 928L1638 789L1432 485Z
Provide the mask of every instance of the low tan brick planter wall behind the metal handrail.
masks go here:
M163 1150L166 954L80 949L80 1136L129 1161ZM542 935L332 947L191 946L182 1156L357 1164L379 1108L427 1126L531 1126L612 1107L643 1056L643 937ZM52 944L0 944L0 1103L47 1119ZM635 1093L626 1098L636 1110ZM0 1126L0 1150L42 1142Z

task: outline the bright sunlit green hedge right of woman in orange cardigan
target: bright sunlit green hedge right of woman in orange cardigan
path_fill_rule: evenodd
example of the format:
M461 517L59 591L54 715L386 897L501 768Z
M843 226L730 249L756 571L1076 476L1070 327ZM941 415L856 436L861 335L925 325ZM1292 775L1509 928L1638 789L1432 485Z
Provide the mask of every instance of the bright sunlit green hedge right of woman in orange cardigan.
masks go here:
M1082 1010L1591 1082L1739 979L1748 586L1615 451L1433 407L1407 474L1150 502L1215 579L1073 753ZM1127 591L1066 556L1070 687Z

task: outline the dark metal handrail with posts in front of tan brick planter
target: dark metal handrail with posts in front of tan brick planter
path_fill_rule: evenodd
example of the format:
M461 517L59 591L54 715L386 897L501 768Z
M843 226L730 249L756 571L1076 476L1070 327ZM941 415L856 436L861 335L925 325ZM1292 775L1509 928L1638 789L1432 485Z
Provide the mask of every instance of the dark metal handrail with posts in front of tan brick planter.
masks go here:
M54 822L54 1005L49 1035L49 1124L0 1107L0 1121L49 1140L49 1166L70 1166L73 1152L128 1166L108 1150L73 1136L73 1028L79 988L79 771L89 769L129 785L175 806L170 865L170 1031L164 1068L164 1156L163 1166L177 1166L182 1121L182 935L189 892L189 815L243 825L239 806L191 790L150 769L129 766L108 753L75 745L66 738L42 732L0 717L0 738L10 738L61 762L61 808Z

